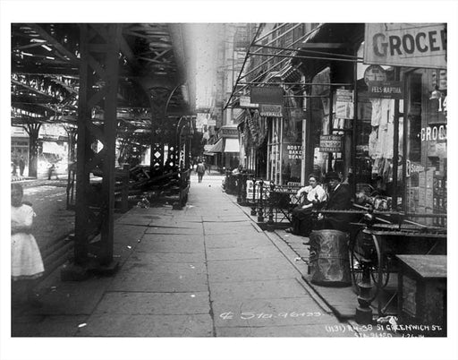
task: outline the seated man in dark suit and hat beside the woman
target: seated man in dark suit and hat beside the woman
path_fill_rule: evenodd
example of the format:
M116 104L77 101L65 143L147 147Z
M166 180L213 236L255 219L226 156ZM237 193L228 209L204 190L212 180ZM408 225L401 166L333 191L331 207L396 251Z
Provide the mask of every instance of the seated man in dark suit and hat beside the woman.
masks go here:
M341 179L334 171L326 176L328 184L328 198L326 210L349 210L352 208L352 197L346 185L341 184ZM327 214L326 218L320 214L318 220L324 220L324 228L340 231L348 231L352 220L352 214Z

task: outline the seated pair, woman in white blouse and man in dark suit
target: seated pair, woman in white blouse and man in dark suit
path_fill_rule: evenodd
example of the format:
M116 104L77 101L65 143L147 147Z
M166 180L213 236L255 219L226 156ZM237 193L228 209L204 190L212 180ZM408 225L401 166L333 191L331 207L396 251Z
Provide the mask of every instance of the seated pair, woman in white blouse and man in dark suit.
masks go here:
M349 210L352 208L352 197L348 185L342 184L335 172L328 172L325 178L327 193L318 184L318 176L309 176L309 185L302 187L296 194L300 204L293 210L292 227L287 232L310 236L313 229L334 229L348 231L352 221L351 213L319 214L313 218L312 210Z

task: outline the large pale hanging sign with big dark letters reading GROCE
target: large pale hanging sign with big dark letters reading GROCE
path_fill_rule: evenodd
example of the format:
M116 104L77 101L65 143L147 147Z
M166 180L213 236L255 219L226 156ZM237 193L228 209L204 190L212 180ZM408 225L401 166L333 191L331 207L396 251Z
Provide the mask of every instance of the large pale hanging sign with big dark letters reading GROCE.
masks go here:
M367 23L364 64L445 69L443 23Z

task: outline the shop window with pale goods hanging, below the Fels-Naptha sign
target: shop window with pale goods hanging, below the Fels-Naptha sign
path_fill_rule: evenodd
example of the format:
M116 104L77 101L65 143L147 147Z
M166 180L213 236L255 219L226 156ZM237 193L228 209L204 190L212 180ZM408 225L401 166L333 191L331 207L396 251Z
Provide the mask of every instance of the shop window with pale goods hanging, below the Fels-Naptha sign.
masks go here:
M366 67L367 68L367 67ZM387 81L394 80L394 69L380 69ZM362 73L362 72L359 72ZM399 109L398 159L394 159L395 107ZM394 162L397 165L397 205L403 203L403 100L374 98L367 83L358 85L358 122L354 159L357 201L369 202L377 210L390 210L394 194Z

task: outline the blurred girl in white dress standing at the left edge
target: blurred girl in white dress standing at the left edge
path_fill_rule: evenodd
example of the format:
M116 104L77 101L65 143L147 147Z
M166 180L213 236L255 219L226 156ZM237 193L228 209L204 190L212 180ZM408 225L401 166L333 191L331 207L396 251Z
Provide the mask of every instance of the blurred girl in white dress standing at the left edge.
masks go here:
M11 276L12 304L40 306L34 293L37 279L43 275L44 266L35 237L31 234L33 218L31 205L22 201L21 184L11 185Z

